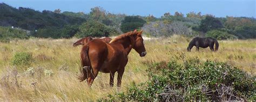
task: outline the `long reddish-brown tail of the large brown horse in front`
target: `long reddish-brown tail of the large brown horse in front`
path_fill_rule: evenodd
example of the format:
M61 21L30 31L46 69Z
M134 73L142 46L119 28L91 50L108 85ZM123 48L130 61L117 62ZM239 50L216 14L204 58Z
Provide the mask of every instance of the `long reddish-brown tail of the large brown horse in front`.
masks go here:
M80 75L78 75L78 79L81 81L84 81L87 79L87 71L90 70L90 59L88 56L89 51L89 44L86 44L82 47L82 50L80 52L81 57L81 63L82 63L82 69L80 69Z

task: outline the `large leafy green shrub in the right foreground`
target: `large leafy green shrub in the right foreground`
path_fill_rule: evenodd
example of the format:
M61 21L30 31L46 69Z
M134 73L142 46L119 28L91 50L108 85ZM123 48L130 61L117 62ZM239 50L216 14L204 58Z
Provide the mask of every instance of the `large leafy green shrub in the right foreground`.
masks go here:
M178 63L178 62L183 63ZM164 64L164 65L162 65ZM134 84L112 100L223 101L255 98L256 77L223 62L177 57L148 65L146 83Z

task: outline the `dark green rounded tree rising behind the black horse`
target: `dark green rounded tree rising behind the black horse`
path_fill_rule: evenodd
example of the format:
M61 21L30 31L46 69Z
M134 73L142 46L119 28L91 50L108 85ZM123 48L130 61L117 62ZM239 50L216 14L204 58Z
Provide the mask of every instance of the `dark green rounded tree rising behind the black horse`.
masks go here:
M199 30L203 32L220 28L223 28L223 24L219 21L219 19L213 16L206 16L199 25Z

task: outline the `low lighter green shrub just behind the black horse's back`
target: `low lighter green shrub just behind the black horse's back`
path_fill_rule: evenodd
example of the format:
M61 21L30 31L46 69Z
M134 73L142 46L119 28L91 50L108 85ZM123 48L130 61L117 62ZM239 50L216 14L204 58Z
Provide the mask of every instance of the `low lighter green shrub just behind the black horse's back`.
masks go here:
M211 30L208 31L205 35L205 37L212 37L218 40L223 40L223 39L237 39L237 36L231 35L226 31L221 31L221 30Z

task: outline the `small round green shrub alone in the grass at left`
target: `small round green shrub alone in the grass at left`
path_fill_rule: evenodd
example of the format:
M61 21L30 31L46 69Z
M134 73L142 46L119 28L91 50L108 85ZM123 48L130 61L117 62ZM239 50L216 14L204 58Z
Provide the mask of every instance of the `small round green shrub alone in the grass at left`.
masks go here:
M12 65L15 66L30 66L32 62L32 53L29 52L16 52L11 60Z

